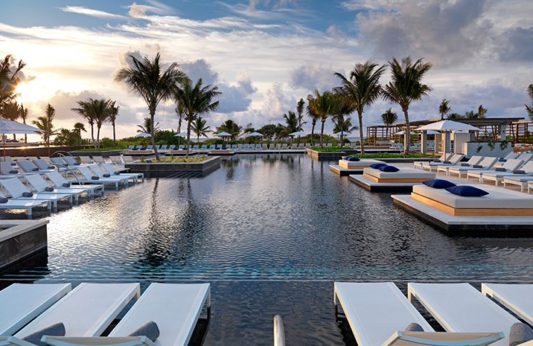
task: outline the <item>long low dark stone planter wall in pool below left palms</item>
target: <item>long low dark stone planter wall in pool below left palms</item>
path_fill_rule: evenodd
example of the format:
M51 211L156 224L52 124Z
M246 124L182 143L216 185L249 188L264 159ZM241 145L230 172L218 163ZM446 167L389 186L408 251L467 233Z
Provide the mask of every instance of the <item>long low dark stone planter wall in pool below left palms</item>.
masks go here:
M220 156L212 156L197 163L135 162L126 163L126 167L130 169L130 172L144 173L147 177L164 177L177 172L193 172L206 176L220 168Z

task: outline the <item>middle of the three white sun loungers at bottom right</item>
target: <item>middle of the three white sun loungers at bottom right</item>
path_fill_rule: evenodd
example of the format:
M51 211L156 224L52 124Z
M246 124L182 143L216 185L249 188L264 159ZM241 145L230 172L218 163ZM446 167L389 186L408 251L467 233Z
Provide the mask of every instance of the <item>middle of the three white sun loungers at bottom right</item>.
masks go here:
M519 322L468 283L409 283L409 301L416 298L446 331L503 332L493 345L509 345L511 325Z

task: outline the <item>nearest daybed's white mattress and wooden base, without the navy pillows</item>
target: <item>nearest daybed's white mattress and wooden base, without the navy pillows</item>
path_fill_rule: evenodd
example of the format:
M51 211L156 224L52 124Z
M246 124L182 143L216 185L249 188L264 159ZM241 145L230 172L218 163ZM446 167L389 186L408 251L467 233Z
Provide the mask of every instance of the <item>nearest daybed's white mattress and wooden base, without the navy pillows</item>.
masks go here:
M446 189L413 186L412 199L455 216L533 216L533 198L496 186L474 185L489 192L482 197L462 197Z

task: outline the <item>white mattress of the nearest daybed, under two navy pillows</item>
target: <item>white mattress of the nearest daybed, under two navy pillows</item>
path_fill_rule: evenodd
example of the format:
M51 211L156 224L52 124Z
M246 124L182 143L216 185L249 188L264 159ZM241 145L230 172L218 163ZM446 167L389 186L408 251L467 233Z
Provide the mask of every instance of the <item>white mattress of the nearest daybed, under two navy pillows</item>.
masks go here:
M462 197L454 195L445 189L430 188L425 185L413 186L413 195L420 195L446 206L457 209L533 209L533 195L523 192L504 190L496 186L477 185L489 192L482 197Z

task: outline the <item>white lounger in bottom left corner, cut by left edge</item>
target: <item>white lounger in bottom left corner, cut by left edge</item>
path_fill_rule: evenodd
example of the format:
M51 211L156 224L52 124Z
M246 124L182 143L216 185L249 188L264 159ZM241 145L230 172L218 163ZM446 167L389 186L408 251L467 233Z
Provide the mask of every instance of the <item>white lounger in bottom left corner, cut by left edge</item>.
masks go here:
M13 283L0 291L0 335L10 336L71 290L70 283Z

